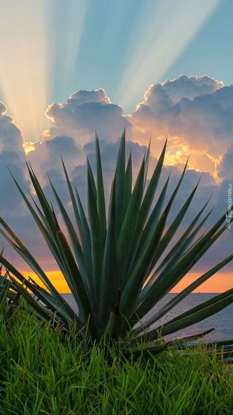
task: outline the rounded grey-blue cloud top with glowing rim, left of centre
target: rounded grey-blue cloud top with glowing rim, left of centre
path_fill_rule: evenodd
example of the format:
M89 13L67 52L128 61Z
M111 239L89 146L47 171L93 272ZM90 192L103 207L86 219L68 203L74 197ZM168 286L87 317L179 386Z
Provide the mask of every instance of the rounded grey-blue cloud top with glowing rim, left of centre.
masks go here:
M78 91L68 98L67 103L49 105L46 116L54 127L46 133L46 138L57 135L73 137L84 145L94 138L95 129L107 142L115 142L126 125L131 136L131 123L123 116L120 105L110 102L103 89Z

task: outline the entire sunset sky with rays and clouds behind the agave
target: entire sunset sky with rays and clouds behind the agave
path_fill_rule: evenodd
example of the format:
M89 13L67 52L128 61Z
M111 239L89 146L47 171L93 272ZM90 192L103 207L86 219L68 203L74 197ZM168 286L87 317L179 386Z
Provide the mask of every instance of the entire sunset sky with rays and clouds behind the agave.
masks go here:
M197 203L181 231L213 193L211 226L227 208L233 176L232 15L231 0L0 3L0 215L57 284L57 265L7 166L31 191L24 160L31 161L50 196L49 171L69 209L60 153L85 204L85 153L94 160L95 129L109 180L124 126L126 148L135 158L134 177L150 135L150 175L168 136L161 188L171 171L172 191L190 155L170 220L201 176ZM105 189L108 195L108 179ZM224 234L182 283L232 254L233 232ZM10 247L5 249L19 269L29 272ZM200 291L232 286L231 269L229 264Z

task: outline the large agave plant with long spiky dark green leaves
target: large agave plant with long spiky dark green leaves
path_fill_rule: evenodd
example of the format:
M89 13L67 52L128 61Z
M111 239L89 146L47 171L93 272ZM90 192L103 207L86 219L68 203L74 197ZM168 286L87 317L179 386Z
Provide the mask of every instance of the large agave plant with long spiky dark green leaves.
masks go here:
M175 295L159 311L154 312L153 316L143 323L143 327L142 325L136 326L136 323L143 319L158 301L192 269L226 229L226 226L223 225L226 219L224 212L224 215L208 232L204 232L201 237L196 238L212 211L211 209L207 212L199 222L208 200L178 242L161 261L160 258L177 232L198 186L197 183L172 224L166 227L167 217L187 168L186 163L180 181L165 209L163 210L163 204L169 177L150 213L163 167L165 149L166 143L145 190L150 154L149 144L132 191L131 153L125 166L125 131L123 132L107 215L98 137L96 137L96 179L87 158L88 217L85 215L77 188L73 189L70 184L62 160L78 232L51 181L50 184L66 225L70 243L61 231L53 207L46 200L31 165L28 166L29 176L40 207L34 200L34 207L29 203L23 190L12 176L63 273L79 312L77 315L70 308L70 305L58 293L29 250L0 217L0 223L9 236L2 229L0 229L1 234L22 256L45 286L45 288L41 288L34 281L27 281L3 257L1 252L0 262L4 264L6 269L5 275L0 281L1 300L3 301L8 296L13 303L17 301L17 296L22 295L36 310L38 318L47 320L55 318L67 329L71 323L78 331L82 331L83 327L88 326L90 337L97 341L100 341L103 335L114 340L141 338L141 336L156 340L159 334L165 336L181 330L231 304L233 302L233 288L180 314L164 325L159 324L162 316L228 264L233 259L233 255L228 256ZM221 227L221 225L223 226ZM32 291L34 296L27 289ZM157 321L157 327L150 329L150 326Z

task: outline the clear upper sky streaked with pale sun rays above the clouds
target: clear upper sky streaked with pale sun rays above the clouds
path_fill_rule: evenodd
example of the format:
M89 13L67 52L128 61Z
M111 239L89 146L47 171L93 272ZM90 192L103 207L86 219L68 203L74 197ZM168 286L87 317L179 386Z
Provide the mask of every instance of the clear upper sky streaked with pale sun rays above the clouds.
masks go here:
M0 100L36 141L46 107L80 89L104 88L127 114L182 73L231 85L232 16L231 0L2 2Z

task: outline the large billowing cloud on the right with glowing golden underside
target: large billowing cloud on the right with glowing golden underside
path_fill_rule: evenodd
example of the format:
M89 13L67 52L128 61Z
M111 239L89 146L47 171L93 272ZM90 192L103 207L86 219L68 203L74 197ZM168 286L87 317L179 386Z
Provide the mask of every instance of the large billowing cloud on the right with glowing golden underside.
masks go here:
M184 163L190 154L189 168L216 177L221 155L232 143L233 86L208 76L181 75L151 85L145 100L127 118L140 144L152 135L155 155L162 146L160 139L168 135L166 164Z

